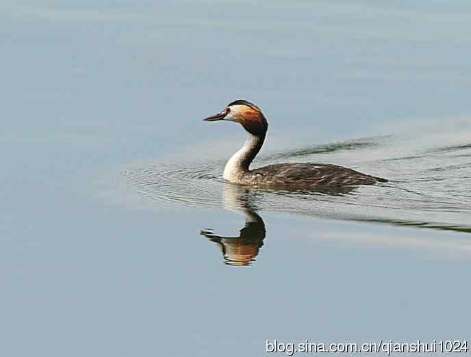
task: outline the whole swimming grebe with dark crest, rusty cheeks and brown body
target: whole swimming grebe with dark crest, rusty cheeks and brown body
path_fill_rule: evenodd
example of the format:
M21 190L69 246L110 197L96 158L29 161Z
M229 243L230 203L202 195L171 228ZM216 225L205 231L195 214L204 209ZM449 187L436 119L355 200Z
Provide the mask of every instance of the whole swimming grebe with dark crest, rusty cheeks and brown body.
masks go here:
M372 185L387 182L385 178L331 164L278 163L250 170L249 166L264 144L268 122L257 105L239 99L225 109L204 119L207 122L228 120L238 122L249 137L244 146L235 153L224 168L225 180L251 185L309 189L348 185Z

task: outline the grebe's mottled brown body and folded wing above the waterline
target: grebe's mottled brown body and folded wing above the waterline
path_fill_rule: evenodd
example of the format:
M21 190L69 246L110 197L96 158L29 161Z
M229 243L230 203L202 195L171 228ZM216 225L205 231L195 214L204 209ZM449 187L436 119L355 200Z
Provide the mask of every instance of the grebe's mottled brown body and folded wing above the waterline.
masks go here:
M266 185L302 187L371 185L384 179L331 164L279 163L252 170L253 179Z

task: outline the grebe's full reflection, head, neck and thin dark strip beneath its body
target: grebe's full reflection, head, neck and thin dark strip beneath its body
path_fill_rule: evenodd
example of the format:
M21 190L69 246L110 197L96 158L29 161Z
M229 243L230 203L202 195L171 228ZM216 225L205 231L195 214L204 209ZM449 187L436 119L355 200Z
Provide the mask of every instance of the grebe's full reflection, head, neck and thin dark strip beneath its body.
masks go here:
M222 189L222 202L225 209L242 213L245 218L244 226L238 236L225 237L217 235L210 229L203 229L200 234L217 243L224 262L228 265L246 266L255 261L260 248L264 245L266 237L265 223L257 213L257 200L264 194L303 194L306 197L314 194L327 194L329 196L345 196L352 194L355 187L318 187L316 191L286 191L261 190L247 185L234 185L225 183ZM311 196L313 199L314 196Z

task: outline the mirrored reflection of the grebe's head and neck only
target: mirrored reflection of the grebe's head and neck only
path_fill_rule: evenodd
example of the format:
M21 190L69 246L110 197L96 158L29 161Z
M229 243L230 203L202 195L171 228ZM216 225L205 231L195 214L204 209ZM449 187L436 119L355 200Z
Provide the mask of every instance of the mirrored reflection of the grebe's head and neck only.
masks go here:
M211 230L201 230L200 234L217 243L228 265L245 266L255 261L255 256L264 245L266 229L264 220L255 211L257 193L251 187L226 183L222 199L226 209L242 213L245 217L244 227L234 237L216 235Z

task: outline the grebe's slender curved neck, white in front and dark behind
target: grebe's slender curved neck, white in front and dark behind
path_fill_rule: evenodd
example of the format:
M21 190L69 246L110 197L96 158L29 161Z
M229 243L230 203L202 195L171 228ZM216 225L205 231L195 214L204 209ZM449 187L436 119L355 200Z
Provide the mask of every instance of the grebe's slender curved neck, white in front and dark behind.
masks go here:
M249 136L244 146L242 146L237 153L232 155L231 159L226 163L222 177L227 181L241 182L244 174L249 172L249 165L258 154L260 148L262 148L265 136L259 137L249 132L247 132L247 134Z

